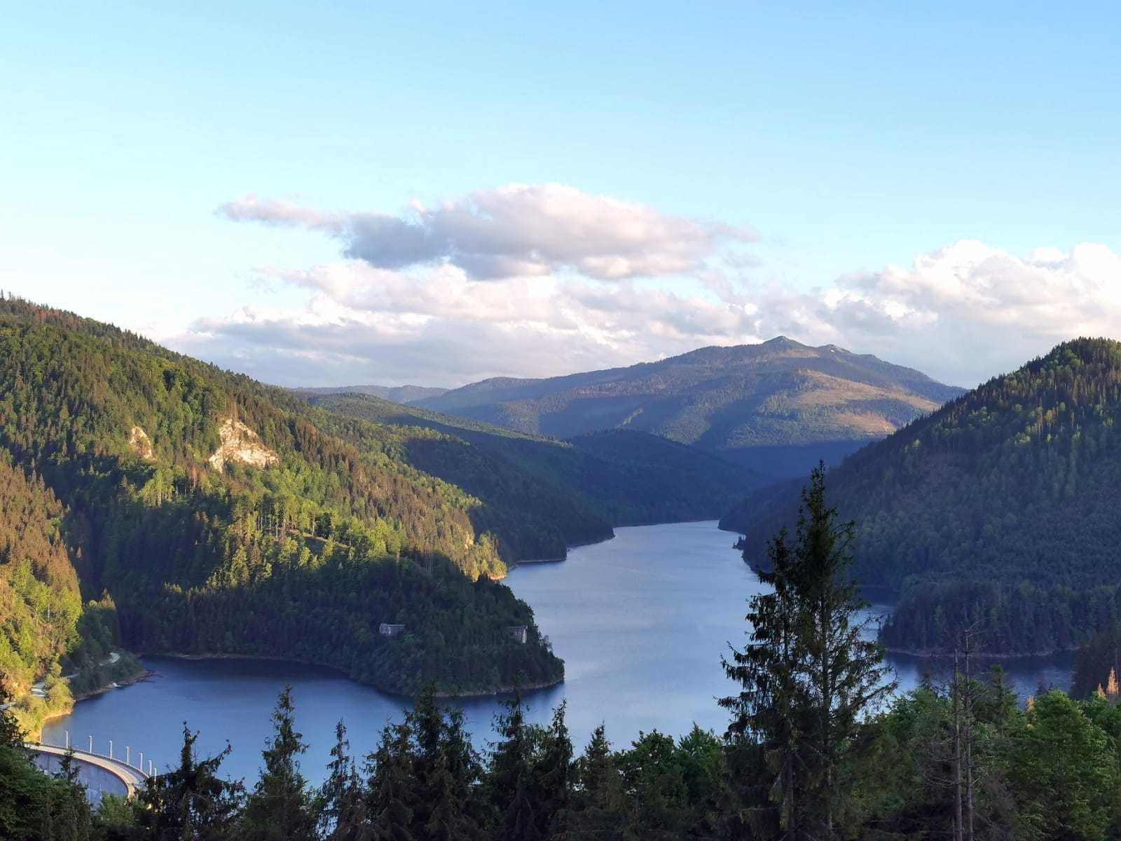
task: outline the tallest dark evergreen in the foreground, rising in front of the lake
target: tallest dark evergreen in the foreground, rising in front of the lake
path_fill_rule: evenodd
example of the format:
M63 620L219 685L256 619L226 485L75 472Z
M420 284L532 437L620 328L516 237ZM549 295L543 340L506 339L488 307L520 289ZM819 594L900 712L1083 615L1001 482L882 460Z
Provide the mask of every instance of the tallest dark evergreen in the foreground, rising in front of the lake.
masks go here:
M839 768L855 745L860 717L889 695L880 646L869 640L868 604L852 576L853 525L825 502L825 466L803 489L794 546L780 532L769 544L772 590L752 597L751 639L724 659L739 694L729 739L740 756L739 811L756 832L833 838ZM765 792L758 780L767 779Z

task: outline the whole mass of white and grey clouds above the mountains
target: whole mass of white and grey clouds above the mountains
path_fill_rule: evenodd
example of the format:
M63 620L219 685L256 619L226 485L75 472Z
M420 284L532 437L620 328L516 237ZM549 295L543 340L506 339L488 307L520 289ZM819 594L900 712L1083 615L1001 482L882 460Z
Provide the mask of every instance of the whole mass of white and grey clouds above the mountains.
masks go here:
M337 261L262 270L303 307L247 306L165 336L284 385L455 386L785 334L973 386L1066 339L1121 334L1121 258L1094 243L1017 256L963 240L798 292L722 255L743 231L557 185L481 191L414 219L259 200L222 213L343 242Z

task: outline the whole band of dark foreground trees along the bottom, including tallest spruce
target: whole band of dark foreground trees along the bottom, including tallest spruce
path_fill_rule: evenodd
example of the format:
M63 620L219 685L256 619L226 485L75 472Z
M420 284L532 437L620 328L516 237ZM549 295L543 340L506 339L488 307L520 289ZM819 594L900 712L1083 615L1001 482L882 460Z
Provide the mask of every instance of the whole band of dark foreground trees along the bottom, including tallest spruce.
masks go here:
M432 685L373 745L335 728L322 784L302 763L286 687L254 780L222 775L183 724L178 761L129 801L87 804L65 760L34 768L0 710L0 835L12 841L1105 841L1121 830L1115 674L1075 701L1040 690L1021 708L1003 672L969 656L948 683L891 697L882 648L862 632L852 526L825 502L824 471L793 535L770 543L771 585L748 601L742 648L723 659L735 694L723 733L609 741L580 751L566 704L529 723L509 699L475 749L462 709ZM717 653L713 653L714 659ZM2 696L0 696L2 700Z

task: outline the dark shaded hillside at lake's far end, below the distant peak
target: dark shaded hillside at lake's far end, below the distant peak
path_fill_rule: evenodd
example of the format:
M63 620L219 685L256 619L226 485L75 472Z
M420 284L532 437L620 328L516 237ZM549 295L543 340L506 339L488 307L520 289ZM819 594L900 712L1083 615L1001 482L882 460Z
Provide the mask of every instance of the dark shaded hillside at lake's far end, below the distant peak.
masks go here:
M565 544L610 537L613 525L715 518L745 489L765 481L707 453L642 433L562 442L364 395L311 401L391 427L410 464L483 501L472 511L476 526L493 529L503 543L512 540L517 558L563 557ZM381 427L365 428L386 437ZM337 432L360 434L346 425ZM556 539L547 543L550 536Z

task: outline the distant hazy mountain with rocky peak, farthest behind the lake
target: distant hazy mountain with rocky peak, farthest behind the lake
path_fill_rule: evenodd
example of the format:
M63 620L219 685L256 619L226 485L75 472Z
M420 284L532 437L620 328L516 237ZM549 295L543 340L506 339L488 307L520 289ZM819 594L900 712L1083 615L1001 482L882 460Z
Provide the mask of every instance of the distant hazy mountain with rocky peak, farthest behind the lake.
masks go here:
M782 477L882 437L961 391L876 357L779 336L629 368L483 380L416 405L562 438L647 432Z

